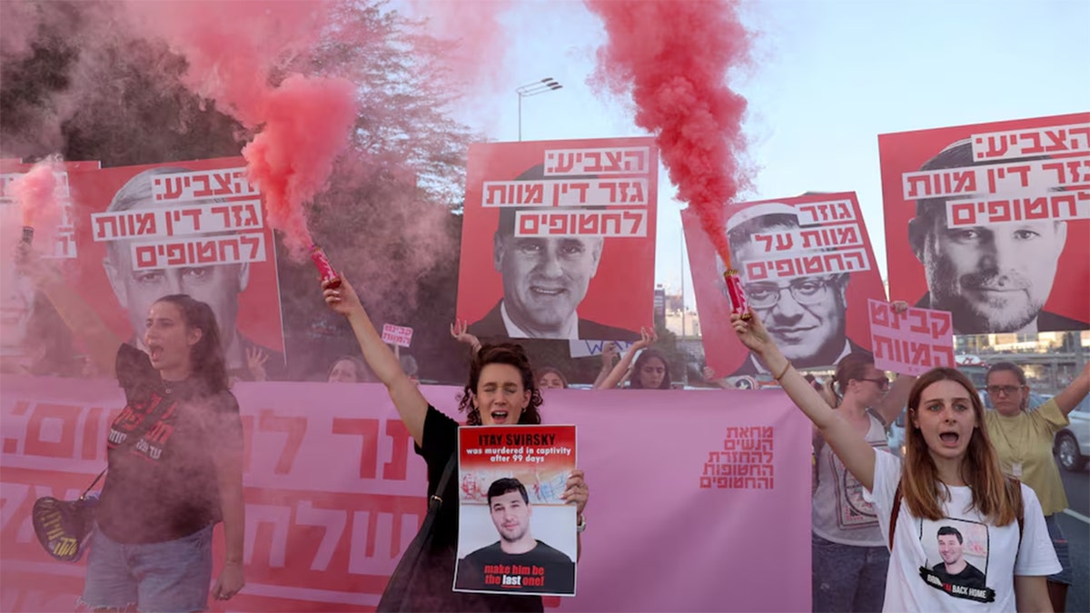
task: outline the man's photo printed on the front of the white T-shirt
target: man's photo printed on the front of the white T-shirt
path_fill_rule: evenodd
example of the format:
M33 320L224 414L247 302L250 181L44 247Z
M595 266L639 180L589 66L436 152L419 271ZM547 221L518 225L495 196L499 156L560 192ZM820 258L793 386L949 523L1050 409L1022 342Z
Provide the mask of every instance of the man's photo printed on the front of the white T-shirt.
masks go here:
M988 587L988 526L953 519L924 520L920 534L927 562L920 577L954 598L993 602Z

